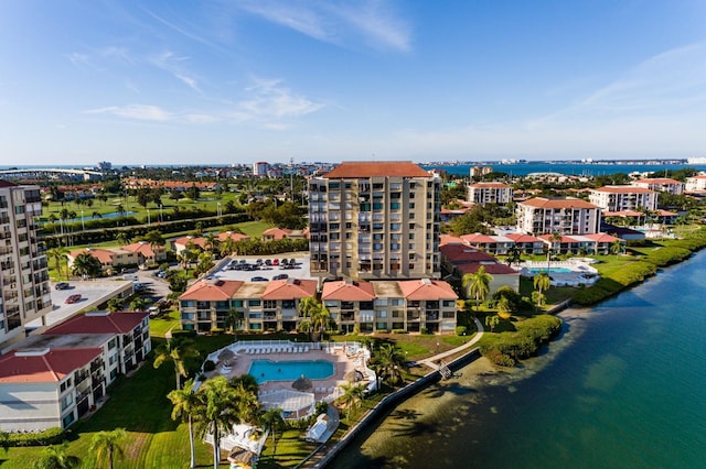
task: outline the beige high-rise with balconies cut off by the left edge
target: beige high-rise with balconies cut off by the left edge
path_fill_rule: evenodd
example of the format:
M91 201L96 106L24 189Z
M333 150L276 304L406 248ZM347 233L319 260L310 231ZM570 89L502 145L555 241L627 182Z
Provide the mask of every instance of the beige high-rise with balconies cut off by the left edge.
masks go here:
M0 348L52 310L46 255L36 241L39 186L0 181Z

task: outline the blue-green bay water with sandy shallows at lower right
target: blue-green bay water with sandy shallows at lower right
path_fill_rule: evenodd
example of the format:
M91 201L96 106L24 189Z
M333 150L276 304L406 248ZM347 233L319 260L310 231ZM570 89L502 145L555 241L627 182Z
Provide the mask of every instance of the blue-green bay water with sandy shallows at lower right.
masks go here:
M706 252L586 312L511 374L394 410L334 468L706 467Z

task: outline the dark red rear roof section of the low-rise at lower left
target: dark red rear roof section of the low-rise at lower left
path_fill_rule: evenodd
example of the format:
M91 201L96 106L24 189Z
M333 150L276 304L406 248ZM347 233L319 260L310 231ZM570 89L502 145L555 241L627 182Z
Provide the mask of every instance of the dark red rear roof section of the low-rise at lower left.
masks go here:
M127 334L135 329L146 317L148 317L147 313L93 312L77 314L44 334Z

